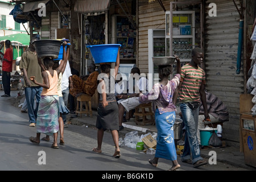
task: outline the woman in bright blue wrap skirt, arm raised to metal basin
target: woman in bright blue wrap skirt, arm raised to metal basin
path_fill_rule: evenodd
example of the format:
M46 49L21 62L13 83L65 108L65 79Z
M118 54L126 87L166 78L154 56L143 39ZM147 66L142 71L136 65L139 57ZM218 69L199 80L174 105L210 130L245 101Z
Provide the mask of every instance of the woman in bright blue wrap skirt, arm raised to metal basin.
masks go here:
M148 162L156 167L158 159L164 158L171 160L172 167L170 171L180 168L177 162L175 140L174 140L174 123L176 116L176 106L173 98L177 85L180 82L180 59L176 56L177 74L169 80L171 75L171 65L159 66L160 82L156 83L148 95L139 94L139 101L142 103L153 102L155 112L155 124L158 130L155 157Z

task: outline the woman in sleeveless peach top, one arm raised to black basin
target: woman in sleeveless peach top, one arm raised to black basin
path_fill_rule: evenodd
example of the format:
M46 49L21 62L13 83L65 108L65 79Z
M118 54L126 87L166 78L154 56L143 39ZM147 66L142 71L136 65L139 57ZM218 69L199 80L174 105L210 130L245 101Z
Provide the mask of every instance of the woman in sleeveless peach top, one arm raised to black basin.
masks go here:
M59 67L55 70L52 69L54 64L53 60L49 57L44 58L43 62L47 70L42 72L43 84L38 83L34 76L30 77L35 84L43 87L38 107L38 119L36 121L36 137L29 138L30 142L34 144L40 143L40 134L44 133L50 136L53 135L53 143L51 147L59 148L57 146L57 133L59 131L60 112L57 83L63 65L67 63L68 60L65 51L64 54L64 61L61 61Z

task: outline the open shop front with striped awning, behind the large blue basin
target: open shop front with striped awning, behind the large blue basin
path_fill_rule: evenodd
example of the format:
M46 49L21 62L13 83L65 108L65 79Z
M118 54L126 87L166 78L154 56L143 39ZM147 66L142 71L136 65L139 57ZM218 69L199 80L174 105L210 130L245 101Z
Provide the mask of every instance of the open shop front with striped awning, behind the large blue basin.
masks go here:
M88 75L88 65L94 63L87 46L121 44L120 59L124 68L136 64L136 1L76 1L74 11L79 16L81 32L81 75ZM121 65L122 66L122 65ZM96 64L100 72L100 65ZM126 69L125 69L126 70ZM130 72L130 71L129 71ZM93 95L92 107L98 106L98 92Z

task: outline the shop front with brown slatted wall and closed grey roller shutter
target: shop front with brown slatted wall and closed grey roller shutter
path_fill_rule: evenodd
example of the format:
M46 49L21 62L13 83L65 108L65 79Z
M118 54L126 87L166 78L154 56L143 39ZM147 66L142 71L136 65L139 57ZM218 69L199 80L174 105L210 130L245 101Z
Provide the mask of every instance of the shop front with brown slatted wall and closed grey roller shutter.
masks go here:
M229 110L222 138L230 145L240 142L239 98L246 93L254 16L254 1L162 0L139 1L138 5L138 67L156 73L152 57L179 54L185 64L192 48L202 48L207 90Z

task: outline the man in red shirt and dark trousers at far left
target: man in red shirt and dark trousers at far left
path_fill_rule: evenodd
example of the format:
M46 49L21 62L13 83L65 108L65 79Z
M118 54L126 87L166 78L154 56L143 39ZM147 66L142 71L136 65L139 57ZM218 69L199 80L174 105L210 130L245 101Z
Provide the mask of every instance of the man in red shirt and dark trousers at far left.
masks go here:
M0 57L2 60L2 82L3 90L5 94L1 97L10 97L11 95L11 71L13 71L13 50L10 48L10 40L5 41L6 50L5 53L1 53L3 57ZM1 46L0 51L3 46Z

